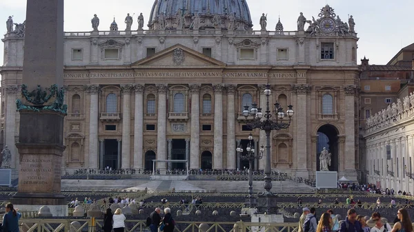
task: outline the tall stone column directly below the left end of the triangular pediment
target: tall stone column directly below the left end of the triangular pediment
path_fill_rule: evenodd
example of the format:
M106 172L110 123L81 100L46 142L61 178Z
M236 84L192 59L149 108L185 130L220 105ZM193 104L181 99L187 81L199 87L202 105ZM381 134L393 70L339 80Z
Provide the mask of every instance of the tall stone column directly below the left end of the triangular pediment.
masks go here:
M134 169L144 169L144 85L134 85L135 118L134 118Z

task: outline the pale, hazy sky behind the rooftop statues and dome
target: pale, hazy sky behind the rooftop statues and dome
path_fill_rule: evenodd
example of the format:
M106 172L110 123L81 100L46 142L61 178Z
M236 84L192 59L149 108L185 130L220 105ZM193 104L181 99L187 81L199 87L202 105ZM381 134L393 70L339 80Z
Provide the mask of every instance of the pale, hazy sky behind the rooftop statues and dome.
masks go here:
M132 29L137 28L137 17L144 14L145 23L155 0L66 0L66 32L91 31L90 19L97 14L99 30L109 30L113 18L120 30L124 30L127 13L135 14ZM203 0L199 0L203 1ZM359 37L358 61L366 56L370 64L386 64L398 51L414 43L413 0L246 0L253 19L253 29L260 30L259 17L268 14L267 30L275 30L277 19L284 30L297 29L297 17L303 12L306 19L317 19L320 9L328 3L342 21L347 22L348 14L355 19L355 31ZM12 15L14 23L22 23L26 18L26 0L0 0L0 33L6 34L6 20ZM1 25L3 20L3 25ZM306 25L305 29L308 27ZM148 29L145 28L144 29ZM0 43L3 51L3 43ZM0 56L0 64L3 56Z

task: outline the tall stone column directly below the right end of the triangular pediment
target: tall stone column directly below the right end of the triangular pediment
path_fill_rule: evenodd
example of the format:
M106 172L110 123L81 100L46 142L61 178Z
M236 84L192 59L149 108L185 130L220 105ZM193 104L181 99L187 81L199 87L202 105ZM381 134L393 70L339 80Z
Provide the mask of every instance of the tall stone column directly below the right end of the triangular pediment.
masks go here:
M215 84L214 89L214 158L213 169L223 168L223 85Z

